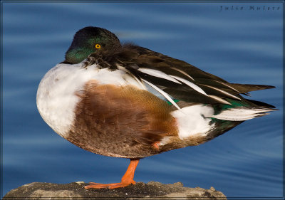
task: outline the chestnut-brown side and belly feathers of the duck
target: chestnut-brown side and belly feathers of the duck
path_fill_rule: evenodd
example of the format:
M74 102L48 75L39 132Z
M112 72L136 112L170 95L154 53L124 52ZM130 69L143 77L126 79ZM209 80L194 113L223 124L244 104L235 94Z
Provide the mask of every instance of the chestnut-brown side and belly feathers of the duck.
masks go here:
M154 142L177 135L170 105L145 90L91 80L78 96L81 101L68 140L90 152L145 157L154 154Z

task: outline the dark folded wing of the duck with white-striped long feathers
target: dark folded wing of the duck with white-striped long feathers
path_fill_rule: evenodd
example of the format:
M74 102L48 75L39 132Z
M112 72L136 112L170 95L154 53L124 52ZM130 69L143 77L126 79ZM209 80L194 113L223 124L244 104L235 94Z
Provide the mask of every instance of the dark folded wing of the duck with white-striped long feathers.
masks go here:
M110 64L110 69L125 68L138 82L150 85L177 109L180 107L173 99L230 105L231 99L244 100L240 94L274 88L270 85L228 83L185 61L133 44L103 53L102 60Z

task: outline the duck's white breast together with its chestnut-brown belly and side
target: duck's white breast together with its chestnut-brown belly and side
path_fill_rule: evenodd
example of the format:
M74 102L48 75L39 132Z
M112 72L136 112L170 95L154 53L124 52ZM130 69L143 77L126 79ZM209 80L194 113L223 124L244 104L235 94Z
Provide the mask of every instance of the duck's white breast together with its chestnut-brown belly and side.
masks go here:
M38 87L43 120L66 140L112 157L147 157L177 136L170 105L123 71L59 64Z

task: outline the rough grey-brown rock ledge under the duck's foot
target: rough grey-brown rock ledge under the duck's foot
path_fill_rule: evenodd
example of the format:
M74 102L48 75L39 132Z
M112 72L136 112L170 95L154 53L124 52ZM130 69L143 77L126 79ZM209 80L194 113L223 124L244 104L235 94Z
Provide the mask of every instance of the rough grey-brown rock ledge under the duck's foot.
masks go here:
M84 189L85 182L70 184L25 184L9 191L3 199L227 199L221 191L199 187L183 187L183 184L138 182L120 189Z

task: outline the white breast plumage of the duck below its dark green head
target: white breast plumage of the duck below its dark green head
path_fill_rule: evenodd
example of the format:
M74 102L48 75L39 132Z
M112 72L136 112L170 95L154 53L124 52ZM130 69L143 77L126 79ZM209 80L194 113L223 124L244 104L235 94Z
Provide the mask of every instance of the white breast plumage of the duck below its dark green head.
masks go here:
M99 69L96 65L58 64L44 75L38 86L36 104L43 120L62 137L68 137L73 125L76 105L89 80L99 84L142 86L123 70Z

